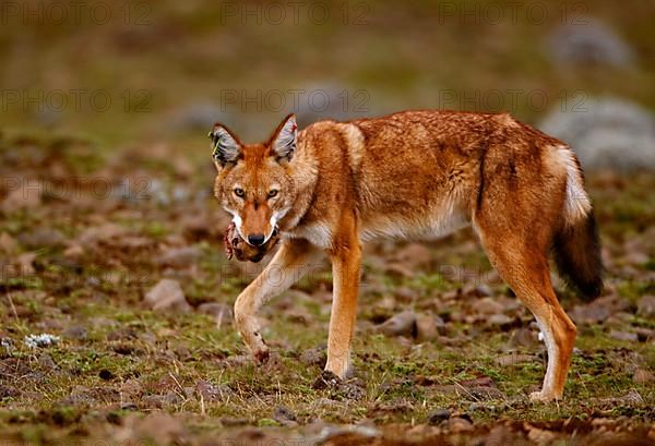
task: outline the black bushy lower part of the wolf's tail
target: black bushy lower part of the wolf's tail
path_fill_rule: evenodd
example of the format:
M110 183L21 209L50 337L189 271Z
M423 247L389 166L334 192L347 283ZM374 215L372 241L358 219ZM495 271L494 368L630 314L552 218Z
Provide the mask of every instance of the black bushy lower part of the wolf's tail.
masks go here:
M574 224L562 227L552 242L560 277L577 290L584 300L603 292L603 260L598 229L592 212Z

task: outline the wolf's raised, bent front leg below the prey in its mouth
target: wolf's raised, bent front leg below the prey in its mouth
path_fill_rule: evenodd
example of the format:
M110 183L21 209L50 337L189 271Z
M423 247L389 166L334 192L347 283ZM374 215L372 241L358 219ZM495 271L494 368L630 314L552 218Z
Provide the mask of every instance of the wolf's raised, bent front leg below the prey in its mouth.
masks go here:
M235 323L258 362L269 358L269 348L262 338L257 313L271 298L286 291L300 279L320 255L320 250L306 240L285 240L271 263L237 298Z

